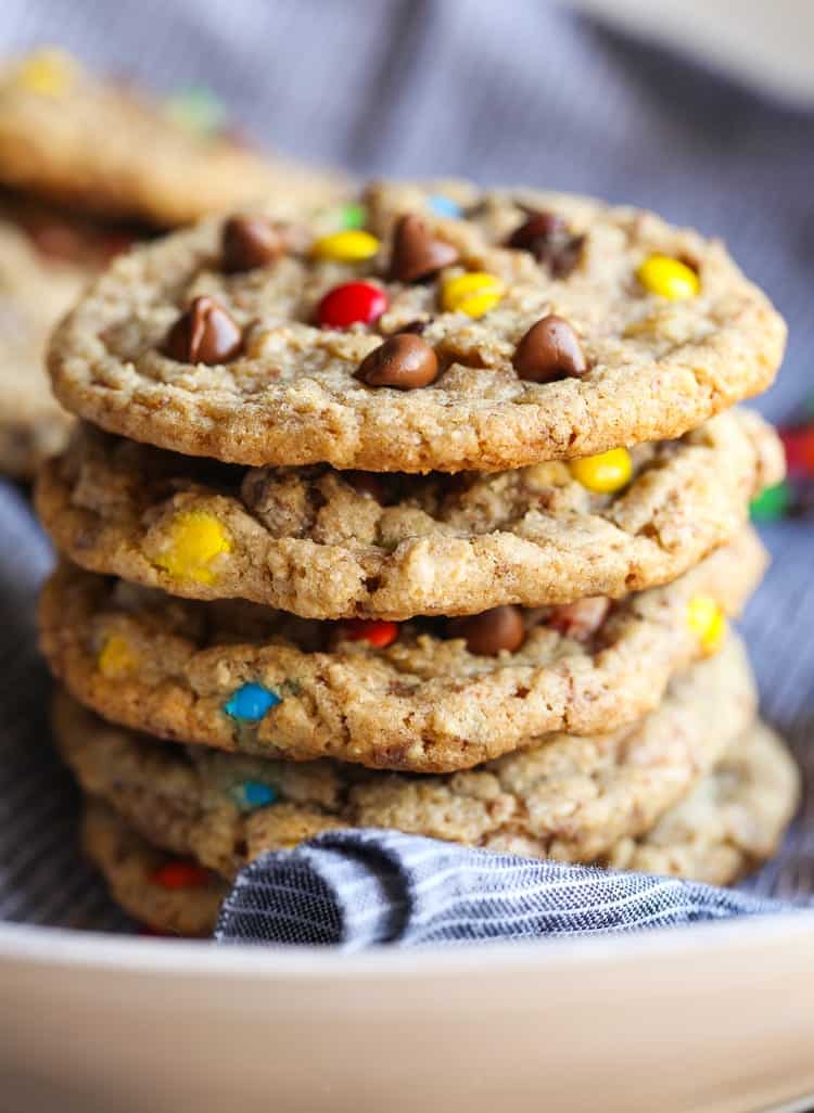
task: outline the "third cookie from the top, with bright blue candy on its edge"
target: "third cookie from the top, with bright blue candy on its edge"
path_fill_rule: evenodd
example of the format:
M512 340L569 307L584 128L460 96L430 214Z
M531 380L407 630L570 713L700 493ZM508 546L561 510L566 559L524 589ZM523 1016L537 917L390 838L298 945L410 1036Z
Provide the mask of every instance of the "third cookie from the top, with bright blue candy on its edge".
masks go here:
M77 699L159 738L448 772L553 730L634 722L671 676L724 643L724 614L764 565L747 532L614 607L592 599L402 624L190 602L63 567L42 594L40 643Z

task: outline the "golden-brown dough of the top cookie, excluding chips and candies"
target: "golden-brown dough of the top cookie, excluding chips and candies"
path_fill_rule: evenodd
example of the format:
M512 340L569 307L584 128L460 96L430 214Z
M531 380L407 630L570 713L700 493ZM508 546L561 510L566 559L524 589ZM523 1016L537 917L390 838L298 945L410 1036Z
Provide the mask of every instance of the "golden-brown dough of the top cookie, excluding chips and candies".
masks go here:
M53 337L57 395L109 432L226 462L499 471L680 436L765 390L777 371L785 326L764 295L720 244L650 214L566 195L484 195L470 219L428 216L460 265L403 286L382 278L403 193L392 205L386 190L369 200L371 226L384 237L373 263L295 253L225 275L218 221L118 262ZM528 252L499 246L522 219L521 204L553 208L585 235L567 278L552 279ZM646 293L636 273L651 253L690 258L700 293L688 301ZM439 305L440 282L461 267L507 286L480 319ZM391 303L375 327L315 326L326 290L371 275ZM168 328L204 294L244 329L243 353L229 363L185 364L163 353ZM590 370L522 381L511 362L516 345L552 311L576 329ZM356 378L382 334L415 318L426 322L423 338L444 367L435 382L399 391Z

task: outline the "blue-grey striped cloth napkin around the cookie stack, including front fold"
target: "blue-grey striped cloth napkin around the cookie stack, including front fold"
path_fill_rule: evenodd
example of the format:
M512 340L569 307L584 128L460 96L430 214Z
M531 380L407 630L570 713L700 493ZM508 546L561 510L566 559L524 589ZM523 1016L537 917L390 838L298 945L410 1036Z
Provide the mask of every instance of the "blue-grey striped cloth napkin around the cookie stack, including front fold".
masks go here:
M360 174L470 175L654 207L727 238L787 317L783 420L814 392L814 116L538 0L7 0L0 48L58 41L157 89L206 85L258 138ZM281 46L284 49L279 49ZM814 776L811 520L774 555L744 634L763 713ZM33 607L51 561L0 484L0 919L131 927L78 853L77 794L48 746ZM737 890L332 833L237 880L218 938L362 947L628 930L785 914L814 894L814 792ZM774 902L774 903L773 903Z

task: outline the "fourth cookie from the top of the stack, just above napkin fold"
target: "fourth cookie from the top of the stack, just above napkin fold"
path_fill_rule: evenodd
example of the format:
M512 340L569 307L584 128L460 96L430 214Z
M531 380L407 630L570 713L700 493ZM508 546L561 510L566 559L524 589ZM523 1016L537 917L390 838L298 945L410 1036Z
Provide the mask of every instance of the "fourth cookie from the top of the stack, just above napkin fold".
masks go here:
M267 761L170 746L62 695L59 749L82 789L136 830L232 877L264 850L340 827L394 827L488 849L592 861L649 830L749 726L741 644L670 684L648 718L610 733L550 735L467 772L419 776L339 761Z

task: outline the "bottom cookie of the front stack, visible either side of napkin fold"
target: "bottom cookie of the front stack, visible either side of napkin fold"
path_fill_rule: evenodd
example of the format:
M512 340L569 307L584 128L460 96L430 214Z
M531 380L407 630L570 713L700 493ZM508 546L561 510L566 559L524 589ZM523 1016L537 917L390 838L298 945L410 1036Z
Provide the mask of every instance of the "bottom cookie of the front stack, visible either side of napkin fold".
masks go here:
M625 840L620 854L625 865L615 861L615 853L610 865L632 869L649 863L660 873L727 885L772 854L796 806L794 762L783 741L762 723L748 728L733 749L739 755L736 762L726 758L720 771L708 775L696 795L667 812L653 833ZM756 792L758 778L764 778L765 787ZM708 806L699 808L696 800L702 797ZM133 916L163 932L197 936L213 932L228 892L217 874L155 849L96 800L88 805L84 834L88 856ZM161 884L167 876L196 884L167 889Z

